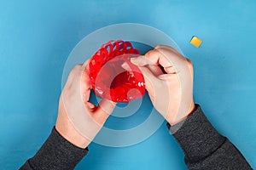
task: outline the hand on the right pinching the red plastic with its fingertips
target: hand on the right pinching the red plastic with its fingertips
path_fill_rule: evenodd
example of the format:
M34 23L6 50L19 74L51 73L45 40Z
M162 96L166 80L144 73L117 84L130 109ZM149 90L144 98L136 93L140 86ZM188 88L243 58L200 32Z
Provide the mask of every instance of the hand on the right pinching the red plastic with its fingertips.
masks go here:
M195 109L193 65L189 59L174 48L160 45L131 62L143 72L154 108L171 125L183 121Z

